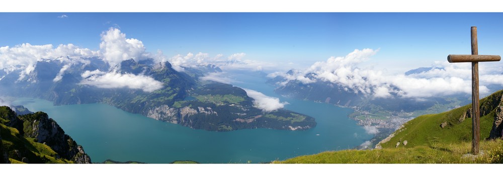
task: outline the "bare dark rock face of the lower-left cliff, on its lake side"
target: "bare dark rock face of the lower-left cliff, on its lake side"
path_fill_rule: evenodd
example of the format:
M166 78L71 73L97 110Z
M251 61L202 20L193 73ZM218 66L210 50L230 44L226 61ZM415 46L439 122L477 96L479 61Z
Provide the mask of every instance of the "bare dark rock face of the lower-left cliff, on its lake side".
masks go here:
M36 138L37 142L45 143L59 154L59 157L76 163L91 163L82 146L77 143L44 112L19 116L24 121L25 137Z

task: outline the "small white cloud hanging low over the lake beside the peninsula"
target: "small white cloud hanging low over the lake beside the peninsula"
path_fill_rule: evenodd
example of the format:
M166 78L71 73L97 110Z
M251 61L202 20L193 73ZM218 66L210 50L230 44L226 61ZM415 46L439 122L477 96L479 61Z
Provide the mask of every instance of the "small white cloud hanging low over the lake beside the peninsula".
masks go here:
M254 105L265 112L271 112L283 108L288 102L280 102L279 98L269 97L255 90L243 89L246 94L254 99Z

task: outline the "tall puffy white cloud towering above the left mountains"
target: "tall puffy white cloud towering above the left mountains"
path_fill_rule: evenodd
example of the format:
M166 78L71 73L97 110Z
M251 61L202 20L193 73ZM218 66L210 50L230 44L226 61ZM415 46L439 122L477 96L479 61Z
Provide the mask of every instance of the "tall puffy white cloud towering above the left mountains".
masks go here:
M110 28L103 32L101 41L100 51L103 53L103 60L111 66L131 58L138 61L151 56L151 54L145 53L145 47L141 41L127 39L126 34L121 33L117 28Z

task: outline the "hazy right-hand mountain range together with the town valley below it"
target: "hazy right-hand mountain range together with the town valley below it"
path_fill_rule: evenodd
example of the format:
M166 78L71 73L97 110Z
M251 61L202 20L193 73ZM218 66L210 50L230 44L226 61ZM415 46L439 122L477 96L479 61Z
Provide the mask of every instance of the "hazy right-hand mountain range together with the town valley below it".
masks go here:
M407 71L405 74L418 74L432 69L443 68L418 68ZM270 78L267 83L276 86L274 91L278 94L355 109L355 112L350 114L350 118L357 120L358 124L362 126L373 126L380 129L372 140L373 144L414 117L444 112L471 102L470 95L466 94L419 99L404 98L392 93L399 92L399 88L393 85L390 85L390 89L394 90L390 91L391 97L371 97L343 84L319 79L316 73L289 70L284 74L277 75ZM308 80L301 81L302 79L299 80L299 77ZM362 79L366 80L366 78ZM494 87L494 89L496 88Z

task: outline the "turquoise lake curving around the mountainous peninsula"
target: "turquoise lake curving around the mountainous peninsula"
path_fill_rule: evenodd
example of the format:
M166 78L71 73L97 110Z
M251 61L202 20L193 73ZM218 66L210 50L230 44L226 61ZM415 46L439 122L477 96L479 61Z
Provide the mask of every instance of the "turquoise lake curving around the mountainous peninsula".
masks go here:
M107 104L54 106L52 102L18 98L14 105L44 111L82 145L93 162L106 159L170 163L253 163L283 160L326 150L355 148L373 135L348 118L352 109L281 97L265 78L233 74L231 84L288 102L286 109L310 115L317 126L306 131L241 129L214 132L191 129L122 111ZM319 135L318 135L319 134Z

